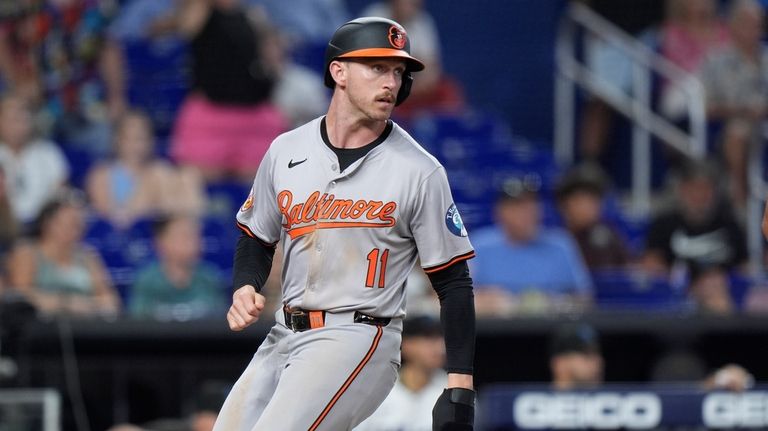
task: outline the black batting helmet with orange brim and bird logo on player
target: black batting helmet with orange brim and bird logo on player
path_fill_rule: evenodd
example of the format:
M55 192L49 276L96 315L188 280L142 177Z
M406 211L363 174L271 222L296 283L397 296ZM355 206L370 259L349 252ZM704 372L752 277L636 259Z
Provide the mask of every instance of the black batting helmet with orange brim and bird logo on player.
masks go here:
M338 58L401 58L406 69L397 93L395 106L403 103L411 92L411 72L424 70L424 64L411 57L411 42L400 24L378 17L357 18L336 30L325 49L325 85L333 88L336 82L328 69Z

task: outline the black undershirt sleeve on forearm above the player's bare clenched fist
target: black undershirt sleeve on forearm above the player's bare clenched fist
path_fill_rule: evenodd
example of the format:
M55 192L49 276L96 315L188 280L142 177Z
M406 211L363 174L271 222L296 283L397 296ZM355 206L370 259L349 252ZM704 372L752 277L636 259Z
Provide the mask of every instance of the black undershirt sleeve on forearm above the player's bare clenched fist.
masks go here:
M232 270L232 285L239 289L250 284L261 292L272 270L275 247L264 244L256 238L242 234L237 240L235 264Z

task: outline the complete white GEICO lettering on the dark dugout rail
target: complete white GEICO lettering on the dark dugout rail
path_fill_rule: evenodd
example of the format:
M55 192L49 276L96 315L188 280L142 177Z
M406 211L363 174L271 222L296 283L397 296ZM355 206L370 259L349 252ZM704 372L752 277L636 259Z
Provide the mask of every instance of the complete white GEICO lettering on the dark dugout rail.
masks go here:
M661 423L661 400L649 392L551 394L529 392L514 404L515 423L528 429L649 429Z

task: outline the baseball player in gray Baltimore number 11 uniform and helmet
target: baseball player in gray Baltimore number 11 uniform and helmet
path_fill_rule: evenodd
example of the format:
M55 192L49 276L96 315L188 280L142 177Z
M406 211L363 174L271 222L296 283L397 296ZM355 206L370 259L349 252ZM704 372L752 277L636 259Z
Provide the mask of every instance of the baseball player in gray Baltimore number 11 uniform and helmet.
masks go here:
M417 258L440 298L447 347L434 429L472 429L474 251L445 170L390 120L423 68L391 20L359 18L331 38L327 115L275 139L237 214L229 326L243 330L263 312L278 241L283 307L215 430L350 430L373 413L397 378Z

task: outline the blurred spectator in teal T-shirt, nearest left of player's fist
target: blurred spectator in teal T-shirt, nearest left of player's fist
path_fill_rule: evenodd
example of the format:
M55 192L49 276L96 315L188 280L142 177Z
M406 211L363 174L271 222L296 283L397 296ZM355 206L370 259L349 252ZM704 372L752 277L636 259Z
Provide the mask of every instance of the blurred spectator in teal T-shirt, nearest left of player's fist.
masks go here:
M201 260L200 230L200 222L188 216L156 222L158 259L136 276L130 293L132 316L190 320L226 311L221 274Z

